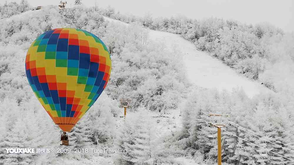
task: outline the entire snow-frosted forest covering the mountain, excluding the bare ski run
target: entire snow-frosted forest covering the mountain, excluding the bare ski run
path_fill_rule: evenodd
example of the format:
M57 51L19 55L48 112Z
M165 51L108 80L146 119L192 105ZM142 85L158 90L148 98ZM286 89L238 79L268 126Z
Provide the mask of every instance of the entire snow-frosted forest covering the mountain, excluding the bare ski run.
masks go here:
M223 164L294 164L293 33L268 23L246 25L221 18L153 18L148 14L141 18L120 14L111 6L95 10L76 5L67 11L45 6L31 11L25 2L0 6L0 164L176 165L184 164L176 159L181 157L197 164L216 164L215 128L183 122L177 132L164 132L173 124L166 118L179 110L187 121L201 120L214 112L229 115L226 119L232 123L225 128L227 132L223 131L222 139ZM128 26L107 21L105 16ZM33 96L24 61L35 38L60 27L97 35L108 46L113 66L105 92L69 133L73 144L69 147L121 148L127 149L127 154L5 152L5 148L59 147L61 131ZM193 86L184 74L181 53L151 40L148 29L181 35L248 79L263 82L272 92L249 98L243 89L228 92ZM119 117L121 109L117 106L122 98L132 100L126 121ZM240 151L240 146L246 152Z

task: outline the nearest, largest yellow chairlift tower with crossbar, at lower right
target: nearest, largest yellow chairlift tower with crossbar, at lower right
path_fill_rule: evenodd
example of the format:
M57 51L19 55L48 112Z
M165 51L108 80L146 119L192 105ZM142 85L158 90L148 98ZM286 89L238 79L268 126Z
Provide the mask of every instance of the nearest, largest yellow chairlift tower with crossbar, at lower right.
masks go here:
M209 114L208 117L228 117L228 115ZM220 120L218 120L220 121ZM221 165L221 128L225 127L224 123L213 120L212 126L218 128L218 165Z

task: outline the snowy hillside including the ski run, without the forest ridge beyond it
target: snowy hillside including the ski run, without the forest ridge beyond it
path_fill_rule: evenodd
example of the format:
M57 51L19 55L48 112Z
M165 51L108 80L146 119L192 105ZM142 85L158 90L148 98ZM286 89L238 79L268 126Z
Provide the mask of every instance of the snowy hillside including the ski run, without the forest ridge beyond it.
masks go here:
M79 5L59 11L57 6L44 6L1 19L0 164L216 164L216 127L210 127L216 121L208 119L208 113L229 115L228 121L219 120L226 125L222 128L223 164L292 163L292 95L275 93L237 74L197 50L191 40L149 30L140 22L104 17L109 11ZM69 148L126 149L127 154L4 152L19 147L67 148L59 145L60 129L38 103L24 69L27 49L35 38L66 27L97 35L112 61L111 81L69 133ZM125 119L120 118L123 108L118 108L123 98L132 100ZM240 146L245 153L240 153Z

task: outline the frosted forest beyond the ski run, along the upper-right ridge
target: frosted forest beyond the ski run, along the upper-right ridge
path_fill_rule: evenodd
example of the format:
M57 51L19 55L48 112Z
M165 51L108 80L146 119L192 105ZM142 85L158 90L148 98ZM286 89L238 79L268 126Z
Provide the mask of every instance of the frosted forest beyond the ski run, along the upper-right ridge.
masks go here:
M111 6L102 14L126 23L140 22L152 30L179 34L249 79L263 82L274 91L293 92L290 83L294 66L293 32L285 33L270 23L248 25L213 17L197 20L185 16L122 15ZM281 66L287 68L286 72Z

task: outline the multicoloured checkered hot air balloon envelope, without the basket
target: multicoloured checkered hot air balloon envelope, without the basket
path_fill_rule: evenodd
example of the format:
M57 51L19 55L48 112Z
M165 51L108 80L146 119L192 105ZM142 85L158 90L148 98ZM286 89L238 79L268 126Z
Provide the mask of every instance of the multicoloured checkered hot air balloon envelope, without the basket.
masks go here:
M26 55L29 84L64 132L70 132L101 95L110 72L107 47L85 30L47 31L32 43Z

